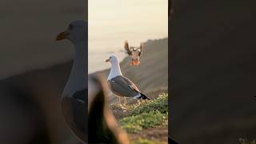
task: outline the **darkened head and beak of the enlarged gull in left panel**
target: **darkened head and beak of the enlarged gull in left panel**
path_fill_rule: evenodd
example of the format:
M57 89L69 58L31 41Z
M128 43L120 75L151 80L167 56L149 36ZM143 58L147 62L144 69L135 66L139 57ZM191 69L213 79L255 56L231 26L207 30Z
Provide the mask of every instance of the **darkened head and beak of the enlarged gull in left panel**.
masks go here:
M58 34L56 41L68 39L73 43L86 42L86 27L87 23L82 20L71 22L65 31Z

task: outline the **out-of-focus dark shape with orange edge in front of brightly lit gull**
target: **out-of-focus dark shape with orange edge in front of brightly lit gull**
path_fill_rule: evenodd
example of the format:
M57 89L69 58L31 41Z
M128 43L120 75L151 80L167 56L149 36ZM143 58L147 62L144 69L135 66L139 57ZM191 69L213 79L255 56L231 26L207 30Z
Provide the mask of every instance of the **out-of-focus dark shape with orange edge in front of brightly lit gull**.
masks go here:
M106 81L99 74L88 79L88 142L128 144L129 139L116 122L106 98Z

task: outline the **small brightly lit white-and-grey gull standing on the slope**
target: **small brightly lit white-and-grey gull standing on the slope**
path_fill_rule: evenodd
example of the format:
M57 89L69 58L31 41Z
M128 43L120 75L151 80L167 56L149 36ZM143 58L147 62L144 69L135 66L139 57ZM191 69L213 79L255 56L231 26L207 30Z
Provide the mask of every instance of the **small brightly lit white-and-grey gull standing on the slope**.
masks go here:
M138 90L138 87L134 84L134 82L131 82L130 79L122 76L118 58L116 56L110 56L110 58L106 59L106 62L111 63L111 70L107 78L107 83L112 93L118 95L119 97L150 100L150 98L146 97L145 94L142 94L140 90Z

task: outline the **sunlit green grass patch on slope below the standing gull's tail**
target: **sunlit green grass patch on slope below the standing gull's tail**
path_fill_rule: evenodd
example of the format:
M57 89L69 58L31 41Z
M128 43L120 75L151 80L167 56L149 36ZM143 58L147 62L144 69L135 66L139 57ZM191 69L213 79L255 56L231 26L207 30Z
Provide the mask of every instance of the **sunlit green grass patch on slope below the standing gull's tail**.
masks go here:
M168 94L160 94L152 101L126 106L130 113L119 120L128 133L138 133L147 128L168 126Z

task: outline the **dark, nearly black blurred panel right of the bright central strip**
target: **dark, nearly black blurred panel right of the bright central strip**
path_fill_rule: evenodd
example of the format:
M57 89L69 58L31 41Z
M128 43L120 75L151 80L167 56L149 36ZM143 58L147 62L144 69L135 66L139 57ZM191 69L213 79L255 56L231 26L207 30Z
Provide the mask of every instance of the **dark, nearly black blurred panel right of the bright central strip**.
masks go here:
M172 9L169 134L179 143L255 140L254 2L174 0Z

